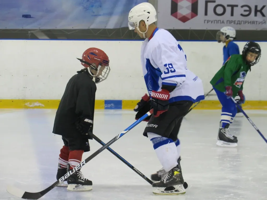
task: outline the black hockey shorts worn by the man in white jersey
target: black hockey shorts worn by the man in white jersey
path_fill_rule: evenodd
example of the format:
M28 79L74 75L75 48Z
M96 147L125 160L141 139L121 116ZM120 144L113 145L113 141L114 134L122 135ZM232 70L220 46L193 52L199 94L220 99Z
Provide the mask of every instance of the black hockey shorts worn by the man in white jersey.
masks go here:
M192 105L192 101L170 103L169 109L160 114L159 117L152 115L143 135L147 137L147 133L155 133L176 141L183 117Z

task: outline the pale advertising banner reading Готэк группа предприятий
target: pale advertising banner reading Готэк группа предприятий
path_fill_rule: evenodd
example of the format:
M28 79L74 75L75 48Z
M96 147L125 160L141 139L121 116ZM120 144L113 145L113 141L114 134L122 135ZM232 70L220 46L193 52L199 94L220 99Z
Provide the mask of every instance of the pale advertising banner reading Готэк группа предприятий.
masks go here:
M163 29L265 30L266 0L158 0Z

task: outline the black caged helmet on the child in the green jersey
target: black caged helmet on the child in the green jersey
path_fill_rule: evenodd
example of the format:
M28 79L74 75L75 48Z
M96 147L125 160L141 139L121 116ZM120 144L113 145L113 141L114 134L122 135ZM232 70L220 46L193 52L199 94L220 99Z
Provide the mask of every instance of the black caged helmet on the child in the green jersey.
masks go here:
M258 54L257 58L254 61L247 60L247 55L249 52ZM242 51L242 55L243 55L243 59L246 61L248 65L250 66L256 65L261 58L261 47L256 42L252 42L252 41L247 42Z

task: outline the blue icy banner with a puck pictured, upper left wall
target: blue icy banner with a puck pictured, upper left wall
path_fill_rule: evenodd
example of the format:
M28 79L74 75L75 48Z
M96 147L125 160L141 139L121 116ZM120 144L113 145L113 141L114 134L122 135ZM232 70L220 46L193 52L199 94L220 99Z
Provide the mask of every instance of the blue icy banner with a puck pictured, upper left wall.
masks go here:
M0 29L113 29L148 0L0 0Z

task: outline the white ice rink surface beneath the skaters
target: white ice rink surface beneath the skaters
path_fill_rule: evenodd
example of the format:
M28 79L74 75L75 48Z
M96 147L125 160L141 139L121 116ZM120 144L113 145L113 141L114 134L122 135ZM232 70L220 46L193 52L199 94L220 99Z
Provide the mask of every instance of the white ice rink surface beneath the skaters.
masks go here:
M0 199L19 199L6 192L7 185L38 192L56 181L58 155L63 142L52 133L56 110L0 110L1 171ZM267 137L267 111L247 111ZM108 142L131 125L135 113L121 110L96 110L94 134ZM67 192L55 187L41 199L64 200L237 200L267 199L267 144L245 117L237 117L231 134L237 147L218 147L219 110L193 110L182 123L181 167L189 184L183 196L157 196L152 187L108 150L83 168L93 181L89 192ZM111 148L139 171L150 177L161 168L151 142L142 135L146 122L111 145ZM101 145L90 140L91 151Z

